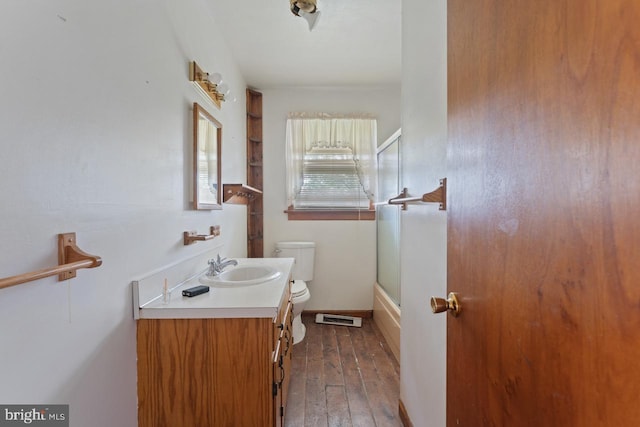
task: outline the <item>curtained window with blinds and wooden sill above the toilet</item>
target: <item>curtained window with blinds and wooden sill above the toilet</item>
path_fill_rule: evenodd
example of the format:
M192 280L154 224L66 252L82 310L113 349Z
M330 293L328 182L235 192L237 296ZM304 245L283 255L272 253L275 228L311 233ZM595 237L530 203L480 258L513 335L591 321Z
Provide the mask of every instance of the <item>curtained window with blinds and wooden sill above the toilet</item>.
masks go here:
M289 219L375 219L376 143L371 117L291 114Z

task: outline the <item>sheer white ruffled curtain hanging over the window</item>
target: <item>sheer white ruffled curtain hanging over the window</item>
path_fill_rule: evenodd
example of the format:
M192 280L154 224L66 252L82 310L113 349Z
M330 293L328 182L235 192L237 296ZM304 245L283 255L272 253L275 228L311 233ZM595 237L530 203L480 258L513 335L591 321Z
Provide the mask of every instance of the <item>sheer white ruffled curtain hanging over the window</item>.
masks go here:
M313 148L349 148L360 184L373 201L376 193L377 122L369 116L292 113L286 126L287 203L303 185L305 154Z

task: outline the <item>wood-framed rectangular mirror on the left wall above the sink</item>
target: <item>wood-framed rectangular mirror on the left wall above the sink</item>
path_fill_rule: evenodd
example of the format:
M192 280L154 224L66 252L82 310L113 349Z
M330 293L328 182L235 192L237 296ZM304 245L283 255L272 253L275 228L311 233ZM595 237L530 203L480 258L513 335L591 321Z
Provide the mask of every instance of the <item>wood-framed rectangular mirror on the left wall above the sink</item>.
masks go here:
M193 176L195 209L222 209L220 154L222 124L193 103Z

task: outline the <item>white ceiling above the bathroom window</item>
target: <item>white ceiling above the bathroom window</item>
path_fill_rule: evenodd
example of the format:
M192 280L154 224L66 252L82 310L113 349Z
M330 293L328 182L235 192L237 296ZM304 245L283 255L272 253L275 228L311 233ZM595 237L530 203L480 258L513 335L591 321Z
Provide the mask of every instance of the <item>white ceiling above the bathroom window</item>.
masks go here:
M313 31L288 0L206 0L247 85L400 84L401 0L318 0Z

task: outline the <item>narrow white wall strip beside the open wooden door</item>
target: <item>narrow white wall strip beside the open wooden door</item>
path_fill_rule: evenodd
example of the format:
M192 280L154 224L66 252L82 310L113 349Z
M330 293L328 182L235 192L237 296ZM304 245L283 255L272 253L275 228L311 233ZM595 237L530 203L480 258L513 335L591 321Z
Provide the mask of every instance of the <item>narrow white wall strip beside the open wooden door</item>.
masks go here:
M432 191L446 177L446 0L402 2L403 186ZM446 212L410 205L402 212L400 395L415 426L445 426L446 315L431 296L446 295Z

